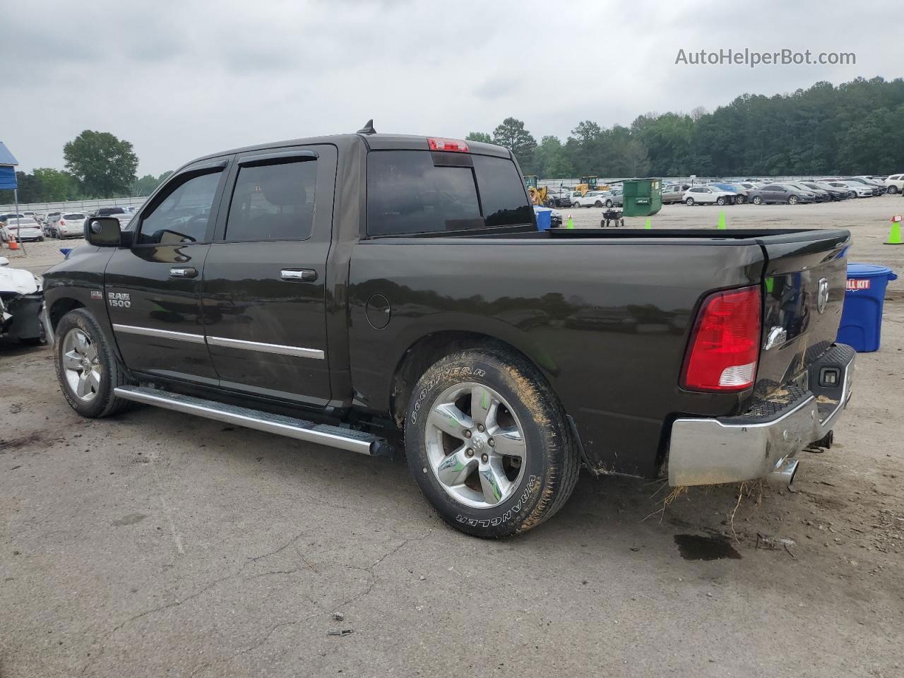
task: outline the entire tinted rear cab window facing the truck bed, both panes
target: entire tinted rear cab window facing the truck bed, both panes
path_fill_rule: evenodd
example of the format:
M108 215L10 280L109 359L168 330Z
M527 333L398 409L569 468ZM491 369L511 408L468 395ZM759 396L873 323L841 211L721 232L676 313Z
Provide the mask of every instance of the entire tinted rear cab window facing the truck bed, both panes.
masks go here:
M511 160L457 159L474 166L436 166L428 151L370 153L367 232L400 235L532 223L532 208Z

